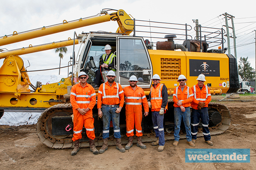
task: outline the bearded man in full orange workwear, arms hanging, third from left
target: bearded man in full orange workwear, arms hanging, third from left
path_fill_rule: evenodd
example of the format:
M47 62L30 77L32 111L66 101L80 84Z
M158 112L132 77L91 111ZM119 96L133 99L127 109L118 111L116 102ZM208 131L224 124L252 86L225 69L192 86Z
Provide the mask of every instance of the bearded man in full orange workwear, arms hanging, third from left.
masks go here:
M142 106L144 107L144 115L148 115L148 101L145 96L145 92L141 87L137 86L137 77L132 75L129 79L130 86L126 86L124 91L125 96L125 115L126 115L126 135L129 139L128 144L125 146L125 149L128 150L132 147L132 139L134 136L134 122L137 136L137 146L141 149L147 149L147 146L141 142L142 138Z

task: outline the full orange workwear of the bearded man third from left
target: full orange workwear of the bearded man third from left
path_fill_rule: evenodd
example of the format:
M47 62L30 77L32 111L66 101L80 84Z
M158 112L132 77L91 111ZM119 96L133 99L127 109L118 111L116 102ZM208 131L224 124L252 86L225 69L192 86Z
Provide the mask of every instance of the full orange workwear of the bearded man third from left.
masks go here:
M142 106L144 111L148 112L148 102L145 92L141 87L136 86L135 90L131 86L126 86L124 89L125 96L125 116L126 116L126 135L134 136L134 122L136 129L136 136L142 136Z

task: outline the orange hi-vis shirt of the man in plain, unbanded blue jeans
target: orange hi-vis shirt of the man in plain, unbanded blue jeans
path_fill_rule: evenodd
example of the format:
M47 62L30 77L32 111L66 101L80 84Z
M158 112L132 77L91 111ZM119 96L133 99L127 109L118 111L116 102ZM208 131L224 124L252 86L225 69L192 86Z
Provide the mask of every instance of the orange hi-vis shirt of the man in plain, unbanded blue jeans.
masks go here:
M173 92L173 106L175 108L179 108L180 106L177 105L179 101L182 102L182 106L184 108L190 107L190 103L193 100L194 93L192 92L191 88L185 85L183 91L181 90L180 86L176 87Z

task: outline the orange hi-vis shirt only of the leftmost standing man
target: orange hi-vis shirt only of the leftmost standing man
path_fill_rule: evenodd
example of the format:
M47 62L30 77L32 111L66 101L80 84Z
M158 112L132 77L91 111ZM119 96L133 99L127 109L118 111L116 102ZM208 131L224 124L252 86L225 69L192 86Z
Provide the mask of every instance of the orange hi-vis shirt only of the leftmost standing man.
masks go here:
M85 87L82 87L80 83L74 85L70 92L70 103L73 109L86 109L90 110L87 112L92 117L92 109L96 104L96 93L93 87L86 83ZM86 115L88 115L86 113Z

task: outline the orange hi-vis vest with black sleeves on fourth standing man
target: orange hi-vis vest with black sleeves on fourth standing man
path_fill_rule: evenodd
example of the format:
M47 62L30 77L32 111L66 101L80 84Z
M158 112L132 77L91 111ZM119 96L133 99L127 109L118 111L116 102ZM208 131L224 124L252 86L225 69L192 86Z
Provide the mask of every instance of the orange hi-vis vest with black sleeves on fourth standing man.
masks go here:
M168 109L168 93L167 88L164 84L158 83L155 87L154 84L152 84L152 87L150 89L149 99L148 101L151 102L151 111L160 111L161 108ZM166 112L164 110L164 113Z

